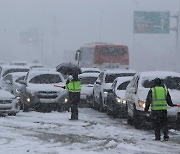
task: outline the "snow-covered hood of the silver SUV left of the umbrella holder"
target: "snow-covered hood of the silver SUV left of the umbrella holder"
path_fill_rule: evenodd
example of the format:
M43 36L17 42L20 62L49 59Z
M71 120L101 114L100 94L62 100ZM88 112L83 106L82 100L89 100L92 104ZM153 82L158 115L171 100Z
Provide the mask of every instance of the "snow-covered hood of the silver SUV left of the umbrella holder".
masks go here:
M64 91L65 84L58 83L58 84L28 84L27 90L37 92L37 91Z

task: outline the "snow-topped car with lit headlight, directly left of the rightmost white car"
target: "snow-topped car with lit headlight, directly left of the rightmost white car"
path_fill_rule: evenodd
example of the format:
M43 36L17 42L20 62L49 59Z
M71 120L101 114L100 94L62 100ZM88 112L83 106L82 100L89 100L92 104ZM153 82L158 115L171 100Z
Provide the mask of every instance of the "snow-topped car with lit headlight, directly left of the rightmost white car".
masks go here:
M126 87L133 76L117 77L112 86L111 92L107 95L107 114L113 117L124 118L127 116L127 105L125 99Z

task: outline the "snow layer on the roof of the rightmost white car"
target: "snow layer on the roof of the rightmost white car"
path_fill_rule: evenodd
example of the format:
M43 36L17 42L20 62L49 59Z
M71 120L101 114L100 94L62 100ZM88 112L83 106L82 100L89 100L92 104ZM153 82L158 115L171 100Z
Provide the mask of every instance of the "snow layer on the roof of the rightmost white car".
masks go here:
M180 73L178 72L171 72L171 71L146 71L146 72L140 72L139 73L141 77L143 78L165 78L167 76L179 76Z

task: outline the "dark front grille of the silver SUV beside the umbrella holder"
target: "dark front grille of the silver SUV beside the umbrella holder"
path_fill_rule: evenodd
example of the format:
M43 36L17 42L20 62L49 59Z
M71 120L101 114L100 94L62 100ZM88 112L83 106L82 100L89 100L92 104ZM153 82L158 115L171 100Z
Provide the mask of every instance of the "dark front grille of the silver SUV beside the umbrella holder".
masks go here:
M58 97L58 93L56 91L39 91L37 97L42 99L55 99Z

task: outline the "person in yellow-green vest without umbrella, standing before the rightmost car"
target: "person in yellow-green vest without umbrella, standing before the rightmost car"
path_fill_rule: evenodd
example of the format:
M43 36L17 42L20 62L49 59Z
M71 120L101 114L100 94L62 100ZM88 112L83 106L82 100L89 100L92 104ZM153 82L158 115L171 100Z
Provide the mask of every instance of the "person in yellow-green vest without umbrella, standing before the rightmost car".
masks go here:
M154 87L152 87L148 92L144 111L147 112L151 105L155 140L161 140L162 129L164 133L164 140L168 141L167 105L171 107L180 106L172 103L169 91L162 85L161 79L156 78L154 83Z

